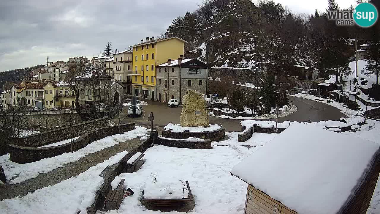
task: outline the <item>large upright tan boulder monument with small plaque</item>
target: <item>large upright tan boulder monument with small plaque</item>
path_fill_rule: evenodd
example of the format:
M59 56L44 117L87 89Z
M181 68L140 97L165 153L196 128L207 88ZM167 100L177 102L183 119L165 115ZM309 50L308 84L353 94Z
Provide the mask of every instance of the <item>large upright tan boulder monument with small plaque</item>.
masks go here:
M194 89L188 89L182 98L182 112L180 125L189 126L210 126L209 115L206 111L206 100L201 93Z

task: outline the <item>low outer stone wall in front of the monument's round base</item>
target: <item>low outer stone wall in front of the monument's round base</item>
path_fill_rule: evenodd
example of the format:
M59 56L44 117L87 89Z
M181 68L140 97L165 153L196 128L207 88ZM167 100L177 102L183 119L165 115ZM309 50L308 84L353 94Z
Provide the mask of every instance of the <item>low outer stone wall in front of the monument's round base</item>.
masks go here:
M186 149L212 149L211 140L194 142L194 141L169 140L169 139L164 139L162 137L158 137L158 139L154 141L154 144L165 145L168 147L186 148Z

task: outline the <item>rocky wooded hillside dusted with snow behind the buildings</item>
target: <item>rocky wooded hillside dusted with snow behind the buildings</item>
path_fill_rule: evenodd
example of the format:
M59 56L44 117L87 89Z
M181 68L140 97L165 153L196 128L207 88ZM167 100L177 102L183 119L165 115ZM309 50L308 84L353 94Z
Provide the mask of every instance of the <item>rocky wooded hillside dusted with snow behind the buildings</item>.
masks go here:
M356 6L340 8L335 0L326 1L326 11ZM380 0L370 2L380 8ZM379 21L369 28L337 26L326 11L294 13L272 0L203 0L196 11L175 18L167 32L188 41L187 57L215 67L252 68L257 62L273 62L342 75L355 60L355 39L358 47L374 43L372 53L378 54Z

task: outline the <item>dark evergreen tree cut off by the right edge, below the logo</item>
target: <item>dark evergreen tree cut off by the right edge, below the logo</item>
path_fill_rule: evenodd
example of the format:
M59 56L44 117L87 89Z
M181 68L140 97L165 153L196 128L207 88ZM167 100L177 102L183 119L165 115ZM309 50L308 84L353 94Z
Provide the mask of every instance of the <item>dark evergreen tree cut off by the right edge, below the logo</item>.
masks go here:
M366 51L366 74L376 74L376 84L378 84L378 75L380 72L380 34L376 28L376 25L372 27L372 42Z

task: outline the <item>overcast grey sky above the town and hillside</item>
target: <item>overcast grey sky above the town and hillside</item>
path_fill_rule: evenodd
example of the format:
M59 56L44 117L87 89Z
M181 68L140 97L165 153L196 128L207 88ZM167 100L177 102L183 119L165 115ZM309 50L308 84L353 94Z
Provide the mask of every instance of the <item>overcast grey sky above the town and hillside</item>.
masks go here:
M0 2L0 72L99 56L106 42L119 51L157 37L201 0L4 0ZM324 11L327 0L274 0L293 11ZM337 0L340 7L354 0ZM352 2L352 3L351 3Z

